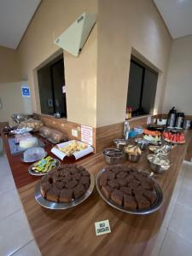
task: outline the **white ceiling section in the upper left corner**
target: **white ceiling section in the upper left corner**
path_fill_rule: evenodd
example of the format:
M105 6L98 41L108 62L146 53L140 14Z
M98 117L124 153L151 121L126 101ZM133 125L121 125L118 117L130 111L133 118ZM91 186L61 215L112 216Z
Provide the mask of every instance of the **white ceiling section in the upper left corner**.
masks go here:
M0 45L16 49L41 0L0 0Z

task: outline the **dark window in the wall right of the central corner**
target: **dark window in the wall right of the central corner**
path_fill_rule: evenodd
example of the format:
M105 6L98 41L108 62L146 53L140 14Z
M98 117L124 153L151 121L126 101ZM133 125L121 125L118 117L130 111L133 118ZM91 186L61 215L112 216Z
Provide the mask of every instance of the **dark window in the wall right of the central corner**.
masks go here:
M127 107L133 116L152 113L158 73L131 55Z

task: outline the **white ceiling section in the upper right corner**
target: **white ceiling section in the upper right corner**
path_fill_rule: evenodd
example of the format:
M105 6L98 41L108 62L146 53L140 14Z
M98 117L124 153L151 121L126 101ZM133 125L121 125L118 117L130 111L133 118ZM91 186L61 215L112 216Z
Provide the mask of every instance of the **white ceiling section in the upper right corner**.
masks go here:
M192 34L192 0L154 0L172 38Z

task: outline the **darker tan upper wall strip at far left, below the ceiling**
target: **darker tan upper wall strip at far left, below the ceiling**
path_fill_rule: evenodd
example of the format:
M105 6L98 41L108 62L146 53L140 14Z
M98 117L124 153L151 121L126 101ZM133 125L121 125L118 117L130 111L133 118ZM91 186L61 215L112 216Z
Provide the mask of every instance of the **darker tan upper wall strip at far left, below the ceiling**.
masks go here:
M0 46L0 84L15 81L20 81L20 66L16 51Z

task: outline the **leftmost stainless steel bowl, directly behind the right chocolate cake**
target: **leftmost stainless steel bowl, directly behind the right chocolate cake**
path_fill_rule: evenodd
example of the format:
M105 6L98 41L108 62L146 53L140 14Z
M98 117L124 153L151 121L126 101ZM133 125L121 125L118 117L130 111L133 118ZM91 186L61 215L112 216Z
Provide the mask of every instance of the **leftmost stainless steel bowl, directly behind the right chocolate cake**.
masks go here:
M125 155L117 148L107 148L103 154L108 165L119 165L125 160Z

